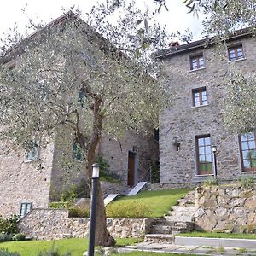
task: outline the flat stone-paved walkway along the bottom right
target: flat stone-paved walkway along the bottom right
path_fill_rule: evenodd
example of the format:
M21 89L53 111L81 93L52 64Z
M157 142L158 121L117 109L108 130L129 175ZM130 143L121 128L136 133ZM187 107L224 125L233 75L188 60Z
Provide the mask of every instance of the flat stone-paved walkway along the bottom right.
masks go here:
M120 247L119 253L134 251L154 252L154 253L185 253L197 255L241 255L256 256L256 248L238 247L209 247L209 246L178 246L168 243L140 242L134 246Z

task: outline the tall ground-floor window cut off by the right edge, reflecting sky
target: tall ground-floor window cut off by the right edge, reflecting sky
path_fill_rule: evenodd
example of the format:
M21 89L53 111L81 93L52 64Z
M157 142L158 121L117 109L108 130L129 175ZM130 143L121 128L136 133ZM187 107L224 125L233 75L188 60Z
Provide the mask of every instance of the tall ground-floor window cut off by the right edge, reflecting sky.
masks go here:
M250 132L239 136L242 171L256 171L256 136Z

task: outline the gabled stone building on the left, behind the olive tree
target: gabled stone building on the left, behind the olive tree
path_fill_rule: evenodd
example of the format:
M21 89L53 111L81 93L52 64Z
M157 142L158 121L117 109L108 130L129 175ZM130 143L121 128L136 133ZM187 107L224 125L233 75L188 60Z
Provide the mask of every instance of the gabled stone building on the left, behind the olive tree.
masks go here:
M62 15L45 26L41 32L61 24L63 20L73 18L78 19L72 12ZM86 27L93 33L94 38L101 37L88 25ZM34 47L33 39L40 37L41 32L32 34L16 45L9 51L9 55L1 56L0 64L12 68L19 56L26 52L24 44ZM109 44L106 39L105 43ZM48 207L49 201L54 200L56 194L59 195L73 183L79 183L84 178L85 166L76 149L72 132L65 129L55 131L55 137L44 147L33 144L29 152L15 151L9 142L2 141L0 215L23 216L32 207ZM149 166L158 160L158 143L155 143L153 133L146 136L127 131L120 141L112 137L102 137L97 153L108 160L110 173L119 177L124 185L134 186L145 179Z

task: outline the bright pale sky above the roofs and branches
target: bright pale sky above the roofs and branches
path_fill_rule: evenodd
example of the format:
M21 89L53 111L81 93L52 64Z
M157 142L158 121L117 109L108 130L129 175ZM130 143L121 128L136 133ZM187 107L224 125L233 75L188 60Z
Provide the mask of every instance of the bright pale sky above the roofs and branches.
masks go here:
M97 0L2 0L0 9L0 37L3 35L3 32L15 26L15 23L22 27L22 24L26 23L28 17L32 18L32 20L44 20L49 23L63 14L62 7L69 9L73 5L79 5L80 9L86 13L96 2ZM137 3L141 7L149 3L149 8L157 8L153 0L137 0ZM177 32L177 30L184 32L189 28L193 32L193 40L201 38L201 19L188 14L188 9L183 4L183 0L167 0L166 6L169 11L162 9L156 17L161 24L166 24L169 32ZM25 7L26 15L21 11Z

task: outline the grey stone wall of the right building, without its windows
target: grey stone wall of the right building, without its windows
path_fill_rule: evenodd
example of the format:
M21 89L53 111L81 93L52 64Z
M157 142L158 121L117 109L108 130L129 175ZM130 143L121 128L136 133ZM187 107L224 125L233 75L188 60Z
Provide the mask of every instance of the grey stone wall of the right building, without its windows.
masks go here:
M243 44L245 60L233 64L245 72L255 71L255 40L243 38L239 42ZM209 47L163 59L162 82L172 91L173 105L160 115L160 183L198 183L209 177L197 175L195 163L195 136L206 134L211 135L212 144L217 146L219 179L256 174L241 171L238 136L224 129L223 80L232 63L226 48L221 49L222 55L214 50ZM189 55L201 52L205 68L190 71ZM208 105L192 107L192 90L203 86L207 89ZM173 137L180 142L179 151L173 145Z

